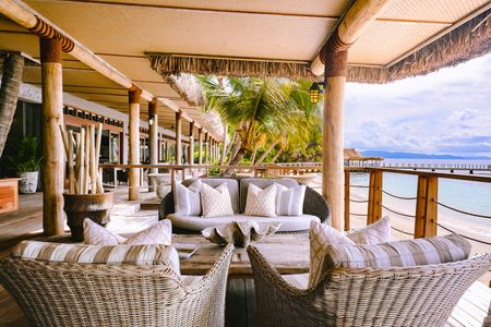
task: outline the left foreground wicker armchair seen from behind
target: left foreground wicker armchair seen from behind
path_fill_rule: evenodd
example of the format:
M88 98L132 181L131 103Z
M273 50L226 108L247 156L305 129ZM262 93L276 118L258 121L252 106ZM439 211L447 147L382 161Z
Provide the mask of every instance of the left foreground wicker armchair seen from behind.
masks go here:
M227 246L200 282L165 266L0 261L0 281L33 326L224 326Z

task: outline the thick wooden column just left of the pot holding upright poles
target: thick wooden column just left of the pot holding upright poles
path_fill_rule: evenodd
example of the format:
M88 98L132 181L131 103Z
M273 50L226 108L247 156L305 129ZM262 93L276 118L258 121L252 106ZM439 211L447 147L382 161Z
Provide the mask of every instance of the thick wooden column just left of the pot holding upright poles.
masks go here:
M46 235L64 232L64 148L61 41L39 38L43 88L43 229Z

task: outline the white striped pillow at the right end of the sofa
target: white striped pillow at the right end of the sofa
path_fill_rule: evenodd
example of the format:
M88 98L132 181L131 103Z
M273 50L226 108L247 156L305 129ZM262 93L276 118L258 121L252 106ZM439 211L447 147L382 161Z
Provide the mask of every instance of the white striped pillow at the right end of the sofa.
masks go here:
M301 216L303 215L303 199L306 198L306 185L297 185L288 189L276 185L276 215Z

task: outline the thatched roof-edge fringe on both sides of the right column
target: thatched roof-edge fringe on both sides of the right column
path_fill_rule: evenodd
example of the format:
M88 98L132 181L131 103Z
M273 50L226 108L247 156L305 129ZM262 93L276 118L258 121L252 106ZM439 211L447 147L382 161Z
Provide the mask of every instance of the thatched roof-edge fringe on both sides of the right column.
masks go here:
M348 65L347 80L359 83L387 83L424 75L488 52L491 52L491 9L390 68ZM147 57L152 68L163 76L185 72L199 75L322 80L311 73L309 63L302 62L184 57L169 53L147 53Z

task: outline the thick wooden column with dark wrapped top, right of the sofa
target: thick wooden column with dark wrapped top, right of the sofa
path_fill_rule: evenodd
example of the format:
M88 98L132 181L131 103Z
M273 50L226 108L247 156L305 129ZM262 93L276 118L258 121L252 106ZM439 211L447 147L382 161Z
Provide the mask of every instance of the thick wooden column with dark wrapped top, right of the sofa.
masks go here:
M348 51L328 43L324 52L325 96L323 123L322 195L331 206L333 227L343 230L344 222L344 95Z

